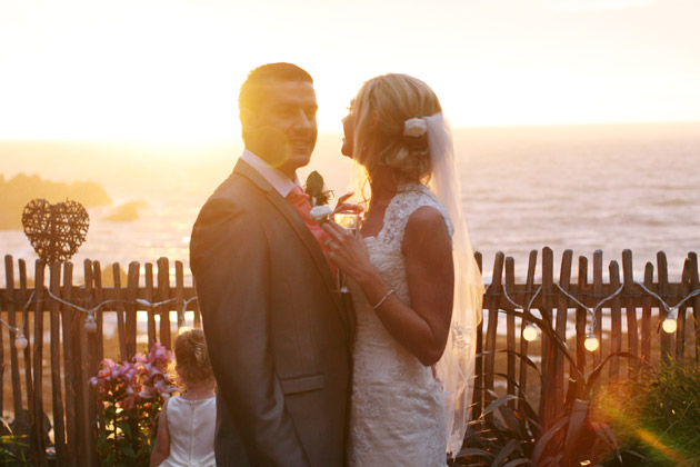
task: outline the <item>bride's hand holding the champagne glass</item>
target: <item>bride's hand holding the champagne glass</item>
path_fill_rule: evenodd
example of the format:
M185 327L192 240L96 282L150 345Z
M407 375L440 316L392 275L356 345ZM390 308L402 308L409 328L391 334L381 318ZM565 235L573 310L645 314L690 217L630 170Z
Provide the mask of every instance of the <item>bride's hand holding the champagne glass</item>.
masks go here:
M340 270L356 279L371 272L373 266L360 234L356 237L332 220L322 222L321 228L328 234L328 257Z

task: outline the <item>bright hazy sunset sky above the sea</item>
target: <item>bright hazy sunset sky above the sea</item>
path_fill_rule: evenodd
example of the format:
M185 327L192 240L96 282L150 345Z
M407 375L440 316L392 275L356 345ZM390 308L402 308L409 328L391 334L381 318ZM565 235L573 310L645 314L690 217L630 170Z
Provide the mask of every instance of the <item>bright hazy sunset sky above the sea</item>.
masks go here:
M240 135L248 71L314 78L319 129L406 72L453 126L700 120L697 0L0 0L0 140Z

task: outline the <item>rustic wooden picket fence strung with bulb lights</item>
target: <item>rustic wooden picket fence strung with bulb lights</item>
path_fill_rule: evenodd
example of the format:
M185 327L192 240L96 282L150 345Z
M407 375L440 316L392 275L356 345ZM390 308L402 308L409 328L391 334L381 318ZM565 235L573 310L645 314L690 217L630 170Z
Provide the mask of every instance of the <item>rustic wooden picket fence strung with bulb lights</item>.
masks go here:
M481 255L476 256L482 267ZM563 405L568 375L573 372L571 366L587 374L614 352L628 352L634 358L611 359L600 384L636 378L640 375L639 368L662 358L692 357L694 352L694 361L699 361L700 294L692 295L698 294L700 284L694 252L688 255L678 282L669 282L663 252L657 257L656 279L654 266L647 264L642 282L634 281L629 250L622 254L621 271L618 261L609 264L607 280L602 251L593 255L592 280L588 258L578 259L578 272L573 275L572 262L571 250L564 251L559 279L556 279L552 250L542 250L539 274L538 251L532 251L527 278L519 281L513 259L501 252L496 256L491 284L483 297L483 321L478 328L474 418L493 400L493 394L518 395L518 388L522 388L540 400L543 420L552 419ZM100 264L86 260L81 284L76 285L71 262L44 266L37 261L32 285L24 260L16 262L11 256L4 258L6 288L0 289L0 311L11 328L23 326L30 345L18 351L13 345L17 332L1 327L0 414L6 400L11 400L14 418L27 414L36 466L98 466L94 423L98 401L88 379L97 374L102 358L126 360L157 341L170 348L171 332L183 325L186 311L193 311L194 327L201 326L196 290L184 286L181 261L174 261L173 268L167 258L160 258L156 267L131 262L126 284L121 284L119 264L112 265L111 271L113 286L103 287ZM593 331L601 342L597 351L589 352L583 347L589 312L563 291L594 309ZM692 297L686 299L689 295ZM659 331L658 325L667 314L659 299L671 308L684 299L674 311L678 330L672 335ZM86 331L88 314L84 310L90 309L94 310L97 332ZM147 339L139 339L139 311L147 315ZM176 322L170 320L171 311L178 312ZM112 338L104 332L109 315L110 318L116 316L117 322ZM528 342L519 330L523 319L527 321L536 315L550 324L552 332L540 332L538 340ZM499 320L500 317L504 319ZM603 317L609 326L603 326ZM49 336L48 341L44 334ZM552 336L559 344L550 340ZM138 348L139 340L144 341L142 348ZM564 355L567 348L571 349L569 356ZM10 362L6 371L8 351ZM517 358L518 352L539 360L542 378L533 377L532 370ZM44 433L44 413L52 420L50 440Z

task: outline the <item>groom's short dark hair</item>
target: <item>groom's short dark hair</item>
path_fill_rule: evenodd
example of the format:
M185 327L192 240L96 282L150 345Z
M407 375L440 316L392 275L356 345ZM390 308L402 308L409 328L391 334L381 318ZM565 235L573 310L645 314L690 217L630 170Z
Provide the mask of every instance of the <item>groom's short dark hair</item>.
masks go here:
M253 69L241 85L238 107L257 112L262 105L270 81L300 81L313 85L311 74L293 63L267 63Z

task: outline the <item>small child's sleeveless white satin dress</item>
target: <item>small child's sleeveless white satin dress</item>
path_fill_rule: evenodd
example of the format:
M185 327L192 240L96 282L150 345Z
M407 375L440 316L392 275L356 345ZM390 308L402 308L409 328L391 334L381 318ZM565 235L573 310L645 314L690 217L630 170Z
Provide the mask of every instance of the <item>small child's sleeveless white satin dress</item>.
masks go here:
M187 400L174 396L166 406L170 456L160 467L214 467L217 398Z

